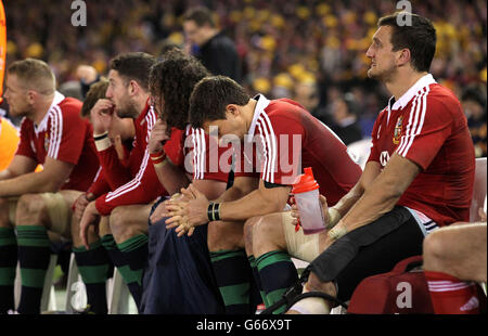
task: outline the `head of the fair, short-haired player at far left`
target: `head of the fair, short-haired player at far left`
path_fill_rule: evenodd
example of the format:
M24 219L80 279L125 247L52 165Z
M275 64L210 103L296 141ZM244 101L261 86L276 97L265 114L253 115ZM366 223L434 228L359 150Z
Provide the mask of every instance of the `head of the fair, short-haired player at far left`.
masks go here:
M13 116L28 116L38 102L52 98L55 86L54 74L46 62L26 59L7 69L3 96Z

